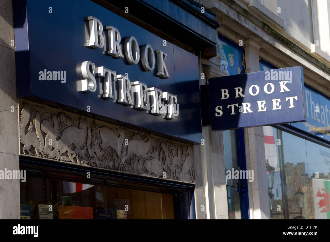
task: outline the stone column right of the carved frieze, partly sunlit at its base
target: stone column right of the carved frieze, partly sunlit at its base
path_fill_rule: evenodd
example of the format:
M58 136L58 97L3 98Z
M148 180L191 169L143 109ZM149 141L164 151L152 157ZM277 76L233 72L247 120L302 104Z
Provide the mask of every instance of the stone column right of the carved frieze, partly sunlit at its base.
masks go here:
M209 78L227 75L220 71L220 59L221 54L218 51L217 56L209 60L200 59L200 73L205 74L205 79L200 79L200 85L207 84ZM222 131L214 132L210 126L203 126L202 138L204 144L199 145L198 148L194 147L194 151L199 149L201 152L201 160L195 158L196 218L228 219ZM204 212L201 211L203 202L205 203Z

